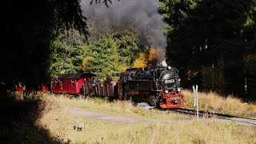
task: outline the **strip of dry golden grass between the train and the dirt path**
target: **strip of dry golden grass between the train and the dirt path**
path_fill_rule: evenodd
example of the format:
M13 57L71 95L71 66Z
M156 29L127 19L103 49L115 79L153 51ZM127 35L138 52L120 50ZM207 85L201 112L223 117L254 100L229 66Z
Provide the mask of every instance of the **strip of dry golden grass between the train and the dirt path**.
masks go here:
M106 114L120 114L131 117L139 117L154 120L183 120L191 116L177 115L168 110L145 110L135 107L131 102L114 101L109 102L104 98L74 98L70 95L43 94L46 101L58 103L59 106L74 106L85 110L101 111Z

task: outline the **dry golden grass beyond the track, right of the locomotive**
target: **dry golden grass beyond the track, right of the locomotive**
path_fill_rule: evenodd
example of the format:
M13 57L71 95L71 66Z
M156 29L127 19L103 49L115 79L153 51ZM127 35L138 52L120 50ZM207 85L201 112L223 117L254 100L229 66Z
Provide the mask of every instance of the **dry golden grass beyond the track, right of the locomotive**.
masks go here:
M184 90L186 107L193 107L194 94L190 90ZM234 98L232 95L228 95L226 98L215 94L198 92L198 102L200 110L214 110L224 114L234 114L240 116L256 117L256 104L249 104L242 102L239 98Z

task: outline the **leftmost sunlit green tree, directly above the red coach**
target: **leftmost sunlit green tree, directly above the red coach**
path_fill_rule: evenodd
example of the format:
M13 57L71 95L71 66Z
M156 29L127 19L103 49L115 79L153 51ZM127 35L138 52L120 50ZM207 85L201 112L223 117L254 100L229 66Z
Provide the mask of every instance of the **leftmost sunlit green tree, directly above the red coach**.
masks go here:
M82 72L82 61L88 54L86 42L77 30L65 30L59 34L50 46L50 76Z

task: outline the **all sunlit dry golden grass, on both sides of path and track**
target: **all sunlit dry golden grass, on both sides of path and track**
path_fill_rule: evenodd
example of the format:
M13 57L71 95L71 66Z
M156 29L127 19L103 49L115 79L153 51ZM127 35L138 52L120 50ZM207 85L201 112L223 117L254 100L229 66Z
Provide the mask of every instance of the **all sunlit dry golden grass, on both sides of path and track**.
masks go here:
M186 107L192 107L194 95L185 90ZM226 114L255 116L255 104L243 103L238 98L222 98L214 93L199 93L199 107ZM196 122L194 117L173 114L170 111L144 110L130 102L108 102L102 98L74 98L67 95L42 94L44 113L37 121L50 131L53 138L66 143L256 143L256 126L238 126L234 123ZM118 123L95 120L69 113L70 107L129 115L156 120L152 123ZM182 122L190 119L190 122ZM174 121L173 124L158 120ZM74 130L77 121L84 122L82 131Z

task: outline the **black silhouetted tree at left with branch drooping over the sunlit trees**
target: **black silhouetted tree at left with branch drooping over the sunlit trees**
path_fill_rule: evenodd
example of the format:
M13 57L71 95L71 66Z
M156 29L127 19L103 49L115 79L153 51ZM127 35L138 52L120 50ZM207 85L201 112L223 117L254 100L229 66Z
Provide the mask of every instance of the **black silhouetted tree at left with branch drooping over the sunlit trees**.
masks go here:
M10 8L11 6L11 8ZM63 27L83 34L86 18L79 0L5 1L1 4L2 52L1 92L16 82L37 87L49 78L50 42Z

